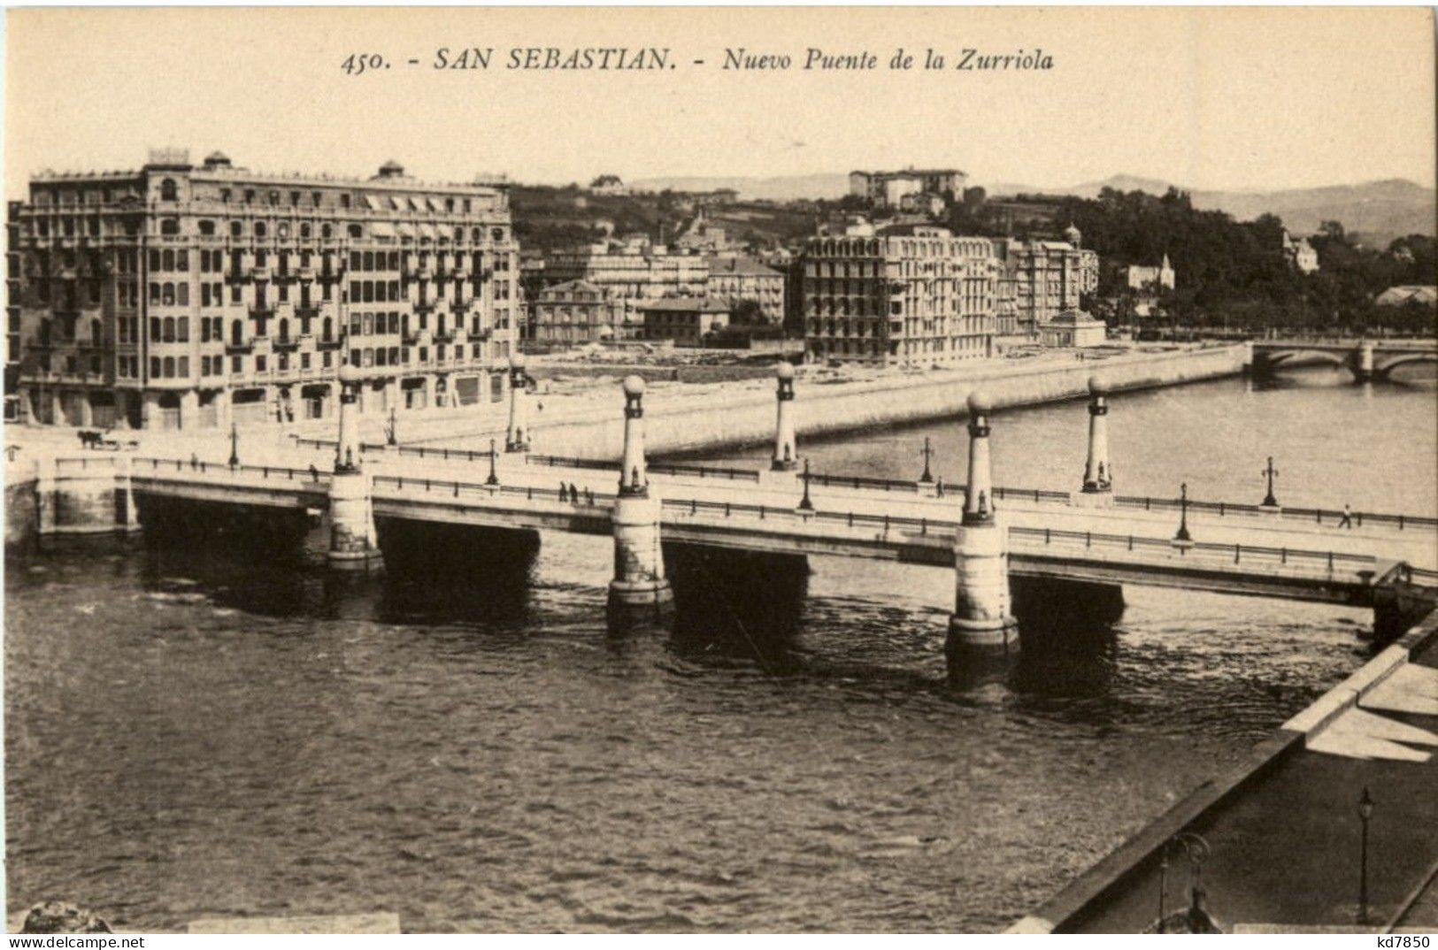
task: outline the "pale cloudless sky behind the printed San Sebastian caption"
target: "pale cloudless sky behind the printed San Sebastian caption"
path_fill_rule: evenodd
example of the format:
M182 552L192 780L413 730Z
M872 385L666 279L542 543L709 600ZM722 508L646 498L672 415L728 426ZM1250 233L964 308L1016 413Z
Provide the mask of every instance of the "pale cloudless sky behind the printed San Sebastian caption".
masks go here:
M490 69L431 68L467 46L492 47ZM669 47L673 68L503 69L529 46ZM913 69L887 68L900 47ZM729 49L792 65L725 70ZM808 49L879 68L804 70ZM922 69L926 49L946 68ZM963 49L1053 68L958 70ZM374 53L390 66L345 73ZM1426 9L23 9L6 16L4 93L10 198L40 170L137 168L154 147L557 184L907 165L1048 187L1435 175Z

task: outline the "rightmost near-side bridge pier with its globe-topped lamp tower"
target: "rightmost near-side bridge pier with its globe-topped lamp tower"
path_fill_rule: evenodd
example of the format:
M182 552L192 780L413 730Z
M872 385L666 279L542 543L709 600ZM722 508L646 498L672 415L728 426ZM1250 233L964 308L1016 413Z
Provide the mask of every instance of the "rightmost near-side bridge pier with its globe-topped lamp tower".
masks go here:
M988 443L991 412L988 395L969 394L969 471L963 519L953 538L951 651L961 645L1007 647L1017 638L1018 622L1008 588L1008 529L994 510Z

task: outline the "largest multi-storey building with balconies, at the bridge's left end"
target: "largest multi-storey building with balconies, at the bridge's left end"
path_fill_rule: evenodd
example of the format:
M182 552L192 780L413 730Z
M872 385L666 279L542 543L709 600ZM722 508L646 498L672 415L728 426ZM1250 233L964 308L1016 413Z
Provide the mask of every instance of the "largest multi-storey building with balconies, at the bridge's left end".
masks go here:
M9 207L20 414L196 428L502 400L518 249L502 187L259 174L220 152L40 174Z

